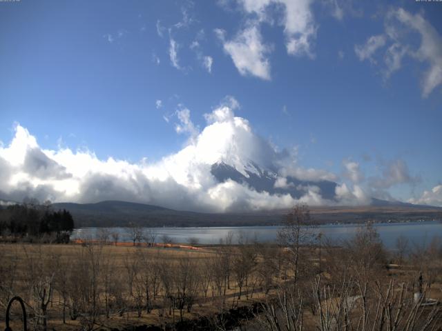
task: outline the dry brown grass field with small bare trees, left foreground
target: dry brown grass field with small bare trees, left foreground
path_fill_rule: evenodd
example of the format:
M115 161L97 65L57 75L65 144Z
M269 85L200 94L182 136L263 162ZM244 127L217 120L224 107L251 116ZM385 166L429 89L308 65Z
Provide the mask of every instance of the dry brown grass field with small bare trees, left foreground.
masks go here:
M98 270L97 279L97 301L99 308L96 312L94 323L102 325L103 328L124 328L128 325L165 325L174 323L181 319L179 309L169 310L170 305L166 291L179 292L179 287L189 287L189 293L184 294L192 297L191 309L183 309L183 319L199 319L202 316L218 314L222 309L231 309L238 305L251 305L255 301L262 301L265 297L262 291L262 283L258 274L247 275L247 284L242 285L242 298L239 297L239 288L233 274L227 279L225 285L222 271L222 260L225 257L232 259L238 254L236 248L229 248L223 252L220 247L193 249L176 248L151 248L146 246L132 245L81 245L81 244L1 244L1 262L3 267L2 281L10 287L3 291L1 298L1 319L4 321L6 299L12 294L19 294L26 301L27 310L32 317L35 310L35 296L32 295L32 288L35 288L37 279L48 279L52 281L52 297L47 309L48 328L52 330L79 330L84 328L86 323L81 314L73 320L70 318L69 310L72 309L75 291L90 292L91 278L95 277L93 272L85 270L85 265ZM223 254L224 253L224 254ZM94 256L95 254L95 256ZM257 258L257 262L260 258ZM183 265L183 261L189 261ZM231 263L231 262L229 262ZM146 269L147 268L147 271ZM167 270L164 270L166 268ZM219 270L213 270L218 268ZM181 272L189 272L189 278L179 278ZM202 274L209 274L211 269L219 272L218 279L207 279L204 281ZM164 273L169 273L169 276ZM146 278L147 277L147 283ZM164 284L169 280L174 283L175 289L165 289ZM75 279L74 279L75 278ZM276 277L273 277L273 281ZM63 283L64 282L64 283ZM244 279L245 282L245 279ZM38 281L37 281L38 283ZM68 283L74 283L70 288ZM106 284L110 283L108 288ZM66 288L64 286L66 285ZM117 288L112 288L117 285ZM38 284L37 284L38 286ZM146 312L146 287L151 291L150 311ZM155 287L155 289L153 288ZM137 292L138 291L138 292ZM154 293L155 291L155 293ZM63 299L63 292L68 293ZM117 293L119 292L119 293ZM111 303L111 308L106 317L104 301ZM154 297L155 296L155 297ZM118 298L120 297L120 298ZM180 297L180 294L177 294ZM182 297L182 294L181 294ZM117 301L121 307L117 307ZM138 301L142 301L137 306ZM81 300L79 300L81 301ZM82 303L88 305L88 303ZM90 304L90 303L89 303ZM17 305L18 306L18 305ZM125 306L125 307L123 307ZM65 307L65 323L63 323L62 311ZM84 307L84 310L87 307ZM90 307L89 307L90 308ZM139 309L141 308L141 309ZM141 310L141 312L140 312ZM19 313L14 310L15 322ZM140 312L140 314L139 314Z

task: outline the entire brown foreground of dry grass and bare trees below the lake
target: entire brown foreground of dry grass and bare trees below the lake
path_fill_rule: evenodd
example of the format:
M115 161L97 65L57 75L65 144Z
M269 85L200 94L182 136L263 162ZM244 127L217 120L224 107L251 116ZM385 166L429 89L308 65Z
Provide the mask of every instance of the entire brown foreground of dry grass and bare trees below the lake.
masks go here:
M442 328L441 241L386 252L370 226L341 247L93 241L1 243L0 252L0 323L19 295L30 330L278 330L276 323L331 331L345 330L344 321L353 330ZM426 299L435 304L421 305ZM20 328L17 307L12 330Z

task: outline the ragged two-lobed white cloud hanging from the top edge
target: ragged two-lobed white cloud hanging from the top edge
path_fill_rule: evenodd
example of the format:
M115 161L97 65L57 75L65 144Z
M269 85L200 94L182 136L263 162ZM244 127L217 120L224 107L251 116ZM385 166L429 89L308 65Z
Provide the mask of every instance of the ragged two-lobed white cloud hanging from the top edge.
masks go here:
M224 7L227 1L220 1ZM340 0L327 0L320 4L338 20L344 17L344 6ZM318 24L312 9L314 0L236 0L244 14L245 26L232 40L225 39L225 32L215 32L223 43L224 51L232 58L242 75L253 75L270 79L269 54L272 48L266 45L260 34L262 23L282 26L287 53L296 57L314 59L314 43ZM351 7L351 6L350 6Z

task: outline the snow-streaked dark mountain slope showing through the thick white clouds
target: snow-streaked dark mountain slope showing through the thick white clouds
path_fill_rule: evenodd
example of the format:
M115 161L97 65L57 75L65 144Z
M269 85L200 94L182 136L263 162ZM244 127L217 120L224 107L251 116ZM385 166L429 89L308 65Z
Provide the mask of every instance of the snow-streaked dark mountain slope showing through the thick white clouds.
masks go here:
M257 192L269 194L290 194L294 199L299 199L305 194L309 186L317 186L323 199L334 200L336 183L333 181L301 181L295 177L287 177L284 187L276 185L278 175L271 170L262 169L253 162L248 162L242 167L242 172L233 165L224 162L213 163L211 174L217 181L223 183L231 179L237 183L246 183Z

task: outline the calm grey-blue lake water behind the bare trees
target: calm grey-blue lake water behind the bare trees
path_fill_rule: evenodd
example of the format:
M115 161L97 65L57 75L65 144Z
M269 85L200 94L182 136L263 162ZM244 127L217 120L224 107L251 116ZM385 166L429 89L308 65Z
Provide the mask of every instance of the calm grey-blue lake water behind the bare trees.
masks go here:
M442 223L440 221L422 221L409 223L378 223L374 227L378 231L384 245L393 249L396 239L403 236L410 244L430 243L433 237L442 237ZM314 229L316 233L321 232L323 238L332 242L351 239L361 225L339 224L320 225ZM109 232L119 232L119 241L131 241L126 228L106 228ZM96 238L99 228L80 228L73 232L73 239ZM240 234L250 239L258 239L261 242L276 241L279 226L242 226L242 227L219 227L219 228L144 228L145 232L152 230L157 234L157 242L161 241L163 235L173 239L175 243L187 243L189 238L198 238L200 243L219 243L220 239L227 237L233 232L233 243L238 241Z

